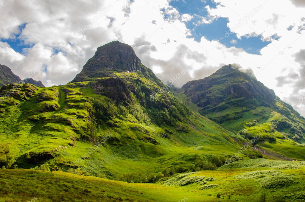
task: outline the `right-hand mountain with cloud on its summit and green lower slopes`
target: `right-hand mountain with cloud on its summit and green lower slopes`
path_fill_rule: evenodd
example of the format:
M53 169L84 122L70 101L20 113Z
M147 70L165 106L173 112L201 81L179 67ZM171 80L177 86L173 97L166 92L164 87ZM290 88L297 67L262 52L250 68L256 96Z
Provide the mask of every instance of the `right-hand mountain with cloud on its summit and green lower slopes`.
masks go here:
M192 109L245 139L260 135L260 153L304 159L304 117L249 72L227 65L209 77L189 81L176 94Z

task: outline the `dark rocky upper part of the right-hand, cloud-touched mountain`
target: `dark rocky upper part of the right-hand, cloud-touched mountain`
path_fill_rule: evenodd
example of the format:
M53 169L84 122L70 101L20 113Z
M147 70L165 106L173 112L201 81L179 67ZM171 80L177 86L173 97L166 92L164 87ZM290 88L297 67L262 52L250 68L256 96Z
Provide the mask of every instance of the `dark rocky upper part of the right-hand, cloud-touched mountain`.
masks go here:
M182 89L193 103L207 112L223 110L223 106L217 107L223 102L232 99L242 99L232 103L239 106L244 101L253 100L257 105L270 106L274 102L275 93L267 88L256 78L226 65L214 74L204 79L189 81ZM249 106L249 103L246 103Z

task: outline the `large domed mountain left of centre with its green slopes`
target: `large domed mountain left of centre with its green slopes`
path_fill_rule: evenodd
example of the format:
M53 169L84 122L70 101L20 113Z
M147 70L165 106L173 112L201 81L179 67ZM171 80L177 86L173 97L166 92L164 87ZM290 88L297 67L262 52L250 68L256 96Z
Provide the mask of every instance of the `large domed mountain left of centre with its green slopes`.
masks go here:
M215 169L245 141L189 110L118 41L99 47L67 85L10 84L0 91L7 93L0 98L6 168L153 182L205 163Z

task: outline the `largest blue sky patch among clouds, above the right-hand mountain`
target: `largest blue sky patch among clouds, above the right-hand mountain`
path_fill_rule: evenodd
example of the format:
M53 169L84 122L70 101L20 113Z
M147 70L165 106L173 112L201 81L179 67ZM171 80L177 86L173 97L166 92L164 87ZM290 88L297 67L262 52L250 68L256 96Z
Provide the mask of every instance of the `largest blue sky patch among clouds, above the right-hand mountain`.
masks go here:
M271 36L269 41L263 40L261 35L238 38L236 33L231 32L227 26L228 19L223 17L216 18L211 23L198 23L202 17L209 20L208 12L204 8L206 5L216 8L217 4L211 0L173 0L170 5L177 9L181 15L187 13L193 16L193 19L185 22L185 25L192 34L189 38L194 38L198 42L202 37L205 37L209 41L217 40L228 48L235 46L236 48L242 48L247 53L260 55L260 50L271 43L270 40L279 39L277 35ZM165 18L168 17L165 16Z

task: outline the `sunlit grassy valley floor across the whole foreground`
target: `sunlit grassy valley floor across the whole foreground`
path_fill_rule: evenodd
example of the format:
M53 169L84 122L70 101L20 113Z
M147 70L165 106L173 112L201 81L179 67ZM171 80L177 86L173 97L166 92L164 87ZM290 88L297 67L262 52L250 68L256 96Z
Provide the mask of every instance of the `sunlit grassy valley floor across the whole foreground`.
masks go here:
M0 170L0 201L304 201L305 163L242 160L216 171L127 183L61 171Z

